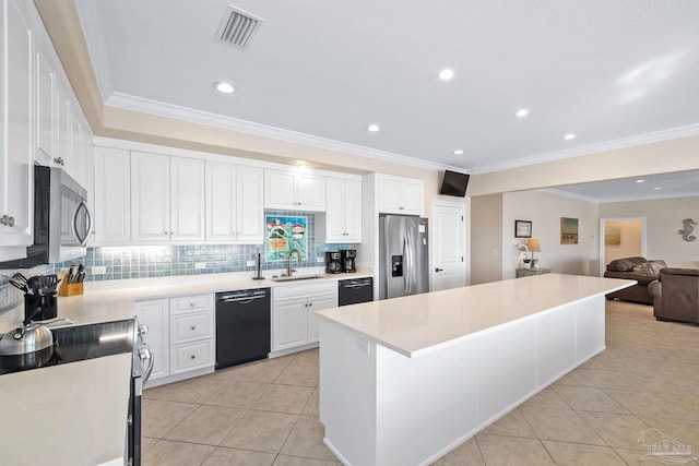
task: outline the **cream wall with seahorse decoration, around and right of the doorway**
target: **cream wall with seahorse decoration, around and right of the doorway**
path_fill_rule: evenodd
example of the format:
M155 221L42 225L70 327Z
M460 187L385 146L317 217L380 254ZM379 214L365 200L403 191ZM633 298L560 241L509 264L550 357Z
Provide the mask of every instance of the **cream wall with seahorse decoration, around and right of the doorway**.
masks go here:
M600 218L645 217L648 259L662 259L671 267L699 267L699 225L695 241L685 241L682 220L699 224L699 196L600 204Z

